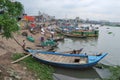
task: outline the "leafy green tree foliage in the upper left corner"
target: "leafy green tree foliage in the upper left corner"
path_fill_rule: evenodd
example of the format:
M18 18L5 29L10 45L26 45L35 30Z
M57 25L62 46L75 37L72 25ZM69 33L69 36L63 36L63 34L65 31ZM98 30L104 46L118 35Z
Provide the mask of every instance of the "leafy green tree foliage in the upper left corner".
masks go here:
M20 2L0 0L0 27L4 37L12 38L13 33L19 30L17 18L22 12L23 5Z

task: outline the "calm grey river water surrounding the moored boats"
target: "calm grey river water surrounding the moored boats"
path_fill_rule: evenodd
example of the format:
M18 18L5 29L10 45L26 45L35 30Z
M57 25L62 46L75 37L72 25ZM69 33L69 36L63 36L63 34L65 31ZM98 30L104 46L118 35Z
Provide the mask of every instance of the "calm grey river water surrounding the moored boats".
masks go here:
M101 63L107 65L120 65L120 27L102 26L99 27L98 37L89 38L65 38L59 42L58 52L69 51L73 49L84 48L82 53L98 54L107 52L108 55L101 60ZM99 78L94 69L72 70L56 68L58 74L72 76L75 78Z

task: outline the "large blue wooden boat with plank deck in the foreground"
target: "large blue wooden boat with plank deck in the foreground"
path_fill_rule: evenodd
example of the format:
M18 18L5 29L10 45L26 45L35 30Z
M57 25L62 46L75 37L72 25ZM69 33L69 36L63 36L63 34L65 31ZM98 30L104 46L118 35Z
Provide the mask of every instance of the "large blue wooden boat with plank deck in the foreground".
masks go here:
M41 50L28 50L38 61L64 68L89 68L96 65L107 53L99 55L63 54L59 52L47 52Z

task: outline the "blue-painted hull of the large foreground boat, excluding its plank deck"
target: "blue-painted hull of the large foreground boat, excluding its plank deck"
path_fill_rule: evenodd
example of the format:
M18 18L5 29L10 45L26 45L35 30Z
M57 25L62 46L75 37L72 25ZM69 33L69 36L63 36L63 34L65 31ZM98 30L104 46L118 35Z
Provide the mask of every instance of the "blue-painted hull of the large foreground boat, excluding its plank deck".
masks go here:
M99 55L86 55L86 54L63 54L63 53L58 53L58 52L47 52L47 51L39 51L40 53L36 53L35 51L33 51L34 53L32 54L33 57L42 63L48 64L48 65L52 65L52 66L57 66L57 67L64 67L64 68L74 68L74 69L80 69L80 68L90 68L93 67L94 65L96 65L102 58L104 58L107 53L102 53ZM52 61L49 60L47 58L43 59L42 57L38 57L35 54L44 54L44 55L57 55L57 56L67 56L67 57L87 57L87 63L67 63L67 62L56 62L56 61Z

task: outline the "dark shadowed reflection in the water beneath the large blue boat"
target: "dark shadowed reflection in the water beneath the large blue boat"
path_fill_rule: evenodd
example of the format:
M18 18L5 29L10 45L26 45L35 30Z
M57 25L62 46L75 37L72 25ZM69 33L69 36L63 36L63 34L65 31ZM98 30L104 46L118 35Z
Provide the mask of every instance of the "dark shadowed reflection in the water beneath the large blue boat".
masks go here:
M82 79L95 79L100 78L97 72L93 68L89 69L67 69L55 67L55 73L62 74L65 76L70 76L73 78L82 78Z

